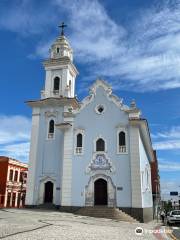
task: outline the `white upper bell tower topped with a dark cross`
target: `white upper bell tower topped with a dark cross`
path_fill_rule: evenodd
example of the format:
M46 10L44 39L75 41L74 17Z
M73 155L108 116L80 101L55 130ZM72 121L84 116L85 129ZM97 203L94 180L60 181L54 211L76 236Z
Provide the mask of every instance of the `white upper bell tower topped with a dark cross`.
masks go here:
M74 98L75 79L78 71L73 64L73 50L64 36L62 23L61 34L52 44L50 57L44 61L46 71L45 88L41 91L41 98Z

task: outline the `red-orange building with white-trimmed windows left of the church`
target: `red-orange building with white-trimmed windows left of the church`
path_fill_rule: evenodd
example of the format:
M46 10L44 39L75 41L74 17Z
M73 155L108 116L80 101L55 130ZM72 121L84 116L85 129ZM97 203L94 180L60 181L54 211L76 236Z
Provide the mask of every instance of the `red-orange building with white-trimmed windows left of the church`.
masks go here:
M0 207L23 207L28 165L0 156Z

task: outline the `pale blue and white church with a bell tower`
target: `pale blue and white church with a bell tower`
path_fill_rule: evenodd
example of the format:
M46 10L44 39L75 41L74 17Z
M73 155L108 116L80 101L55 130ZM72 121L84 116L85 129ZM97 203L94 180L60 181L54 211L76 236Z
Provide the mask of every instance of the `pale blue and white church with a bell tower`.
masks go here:
M78 70L64 31L43 63L45 87L32 108L26 206L103 205L152 219L153 150L147 120L97 79L81 102Z

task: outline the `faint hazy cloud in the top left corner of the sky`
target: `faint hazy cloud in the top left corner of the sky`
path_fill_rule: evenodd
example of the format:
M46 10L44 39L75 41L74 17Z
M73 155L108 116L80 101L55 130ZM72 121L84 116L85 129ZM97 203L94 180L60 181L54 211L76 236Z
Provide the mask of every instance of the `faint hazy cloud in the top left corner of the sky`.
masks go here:
M34 0L14 0L0 10L0 28L23 36L47 33L57 21L51 5L38 5Z

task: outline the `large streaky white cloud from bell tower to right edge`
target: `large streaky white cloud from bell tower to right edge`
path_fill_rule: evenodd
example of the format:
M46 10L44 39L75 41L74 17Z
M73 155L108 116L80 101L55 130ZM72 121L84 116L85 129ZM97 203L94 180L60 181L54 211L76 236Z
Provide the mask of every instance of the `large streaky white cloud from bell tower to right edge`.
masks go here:
M180 87L180 4L143 10L129 28L111 19L100 2L56 0L68 13L71 42L90 71L118 88L136 91ZM42 46L44 47L44 46Z

